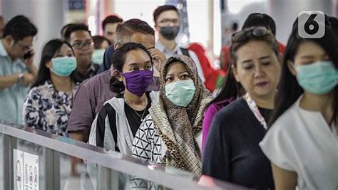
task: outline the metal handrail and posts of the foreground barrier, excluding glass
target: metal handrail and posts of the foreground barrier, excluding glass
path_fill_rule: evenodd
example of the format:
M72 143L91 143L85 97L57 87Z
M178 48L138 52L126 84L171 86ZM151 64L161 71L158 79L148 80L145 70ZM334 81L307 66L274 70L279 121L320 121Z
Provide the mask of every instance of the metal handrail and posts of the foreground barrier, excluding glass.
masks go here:
M168 189L242 189L240 186L227 184L215 179L212 179L212 186L201 186L198 184L198 177L188 172L180 171L178 172L180 174L176 174L176 172L174 172L175 174L168 174L165 171L165 167L143 163L138 159L118 152L105 152L101 147L94 147L67 137L34 130L31 127L2 123L0 123L0 134L3 141L1 148L4 153L2 160L4 177L0 189L14 189L13 150L18 149L19 142L23 141L35 144L35 146L43 149L43 159L41 160L44 160L44 162L40 163L43 169L40 169L42 174L39 176L39 180L44 185L40 189L63 188L60 185L60 169L63 167L60 165L60 154L76 157L105 168L106 171L98 176L98 181L100 182L97 183L96 189L119 189L116 184L112 184L113 181L118 181L118 172L160 184ZM94 184L94 186L96 185Z

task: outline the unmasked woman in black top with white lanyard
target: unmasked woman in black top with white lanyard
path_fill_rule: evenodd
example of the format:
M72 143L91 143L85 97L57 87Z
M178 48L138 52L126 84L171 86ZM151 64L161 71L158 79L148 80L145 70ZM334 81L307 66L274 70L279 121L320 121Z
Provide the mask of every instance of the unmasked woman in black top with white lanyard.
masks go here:
M225 83L235 85L225 87L236 86L237 95L232 96L245 95L215 115L203 174L253 189L274 189L270 162L258 143L267 131L280 80L277 41L265 27L247 28L232 34L230 53L232 75Z

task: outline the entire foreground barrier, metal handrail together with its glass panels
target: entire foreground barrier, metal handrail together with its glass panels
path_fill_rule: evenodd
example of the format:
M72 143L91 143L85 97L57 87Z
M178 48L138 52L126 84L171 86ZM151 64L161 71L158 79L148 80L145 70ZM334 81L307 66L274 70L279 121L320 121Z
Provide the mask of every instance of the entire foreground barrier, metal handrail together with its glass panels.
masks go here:
M0 122L0 189L244 189Z

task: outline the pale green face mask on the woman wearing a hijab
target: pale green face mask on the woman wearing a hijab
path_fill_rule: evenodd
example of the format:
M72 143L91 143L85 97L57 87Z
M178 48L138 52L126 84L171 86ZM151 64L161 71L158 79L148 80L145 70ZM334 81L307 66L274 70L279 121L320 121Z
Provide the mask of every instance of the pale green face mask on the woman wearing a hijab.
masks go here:
M186 107L195 95L193 80L179 80L165 85L165 95L175 105Z

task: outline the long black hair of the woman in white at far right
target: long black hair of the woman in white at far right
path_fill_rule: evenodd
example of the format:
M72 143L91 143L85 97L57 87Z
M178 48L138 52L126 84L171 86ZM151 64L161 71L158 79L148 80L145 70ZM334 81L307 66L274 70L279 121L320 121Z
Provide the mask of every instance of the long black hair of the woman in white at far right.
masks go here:
M282 73L280 83L278 86L278 92L275 97L275 110L272 112L270 117L269 126L271 126L287 109L293 105L299 98L304 90L299 86L297 78L292 75L287 64L288 61L293 61L299 45L304 41L312 41L321 46L324 51L329 55L330 60L334 63L335 67L338 68L338 41L332 33L331 28L325 26L325 33L322 38L301 38L298 35L297 20L295 21L292 33L287 41L287 47L285 49L285 56L282 65ZM337 117L338 110L338 99L337 99L337 86L334 88L335 98L335 113Z

